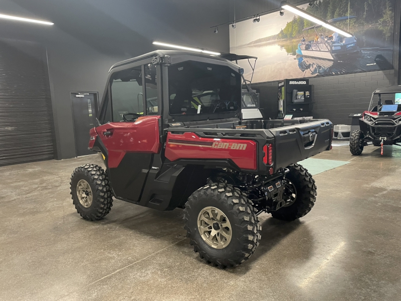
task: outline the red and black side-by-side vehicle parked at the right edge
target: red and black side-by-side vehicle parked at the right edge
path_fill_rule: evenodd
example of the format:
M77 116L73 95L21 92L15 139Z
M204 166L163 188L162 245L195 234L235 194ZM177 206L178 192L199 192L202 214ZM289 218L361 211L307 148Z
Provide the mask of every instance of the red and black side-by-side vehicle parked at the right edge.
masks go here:
M401 86L376 89L359 127L349 139L352 155L362 154L363 147L370 144L381 146L381 155L383 145L401 146Z

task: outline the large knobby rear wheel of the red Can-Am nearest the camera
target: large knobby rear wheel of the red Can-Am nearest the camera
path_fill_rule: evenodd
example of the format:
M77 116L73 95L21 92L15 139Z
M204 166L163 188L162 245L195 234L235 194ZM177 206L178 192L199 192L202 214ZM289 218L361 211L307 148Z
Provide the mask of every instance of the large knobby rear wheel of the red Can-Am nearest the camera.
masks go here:
M246 194L232 185L213 183L195 191L185 204L184 229L193 250L199 252L199 257L220 268L234 267L248 260L259 245L262 230L256 216L257 211L252 205ZM208 216L208 213L205 213L208 208L212 212L213 209L210 208L215 208L214 212L219 211L223 220L228 220L226 224L230 224L230 239L226 240L224 246L217 246L216 241L216 246L212 247L211 242L204 239L208 231L204 232L204 236L200 234L198 223L205 222L198 220L203 216L202 212ZM221 216L216 216L216 220L221 220ZM224 225L222 222L222 229ZM223 238L224 236L221 237L222 240Z

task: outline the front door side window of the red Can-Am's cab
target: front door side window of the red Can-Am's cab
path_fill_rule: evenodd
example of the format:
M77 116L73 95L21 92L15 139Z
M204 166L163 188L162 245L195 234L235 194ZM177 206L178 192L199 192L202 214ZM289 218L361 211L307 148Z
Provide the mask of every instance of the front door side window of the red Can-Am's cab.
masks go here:
M122 116L126 113L144 113L140 66L114 73L110 84L114 122L124 121Z

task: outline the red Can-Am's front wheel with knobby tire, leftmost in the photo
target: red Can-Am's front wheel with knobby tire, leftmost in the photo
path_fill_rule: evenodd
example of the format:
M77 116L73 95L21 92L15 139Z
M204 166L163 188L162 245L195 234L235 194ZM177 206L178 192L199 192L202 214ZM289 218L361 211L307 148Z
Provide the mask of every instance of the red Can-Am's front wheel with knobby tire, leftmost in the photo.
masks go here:
M107 174L95 164L76 168L71 175L70 189L75 209L85 220L99 220L113 206Z

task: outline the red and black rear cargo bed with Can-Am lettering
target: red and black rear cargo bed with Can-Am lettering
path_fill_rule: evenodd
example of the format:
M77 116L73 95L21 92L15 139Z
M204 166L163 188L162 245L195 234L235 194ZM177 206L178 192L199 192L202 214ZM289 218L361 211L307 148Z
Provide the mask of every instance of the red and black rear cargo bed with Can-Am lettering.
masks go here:
M256 153L252 156L256 160L256 169L245 169L265 174L270 168L277 171L292 163L297 163L330 149L332 123L327 119L247 121L225 119L180 124L180 126L168 128L168 131L170 133L167 139L167 148L171 147L170 143L191 143L193 145L212 143L212 146L208 147L213 148L217 143L216 141L224 142L225 139L228 141L227 145L231 145L229 144L229 139L238 139L240 143L248 143L250 140L256 141ZM188 136L188 132L196 135ZM186 140L186 142L183 142L183 140ZM263 163L265 156L263 147L266 144L273 144L272 165ZM169 157L173 160L178 157L192 160L195 158L208 158L211 160L226 158L226 160L237 162L240 160L237 158L238 154L231 154L228 149L222 149L218 153L207 152L207 154L204 153L205 150L205 147L198 147L198 149L194 149L194 153L185 152L181 153L180 156L177 154L172 156L172 151L170 152L170 150L168 150L168 153L171 153ZM234 155L237 156L235 157L236 159L232 157ZM222 158L221 156L225 157Z

